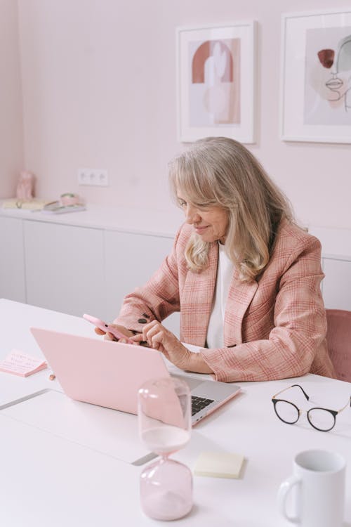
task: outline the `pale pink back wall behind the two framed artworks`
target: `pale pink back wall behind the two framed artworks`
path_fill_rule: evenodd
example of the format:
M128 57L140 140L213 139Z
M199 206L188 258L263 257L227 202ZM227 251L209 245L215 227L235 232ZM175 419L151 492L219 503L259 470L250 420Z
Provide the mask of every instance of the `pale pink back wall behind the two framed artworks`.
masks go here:
M281 14L330 0L18 0L25 163L41 196L152 214L170 209L167 161L176 139L178 25L258 21L258 142L249 148L298 218L351 228L351 147L279 140ZM350 7L339 0L338 8ZM77 185L77 169L107 169L109 188ZM171 206L173 207L173 206Z

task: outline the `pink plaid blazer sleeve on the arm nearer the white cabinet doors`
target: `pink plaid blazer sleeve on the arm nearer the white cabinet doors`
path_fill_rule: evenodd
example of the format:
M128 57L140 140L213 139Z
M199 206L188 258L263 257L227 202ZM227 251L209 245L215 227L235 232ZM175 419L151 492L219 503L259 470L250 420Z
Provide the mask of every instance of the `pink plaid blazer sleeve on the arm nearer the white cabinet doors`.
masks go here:
M171 313L180 311L178 285L178 240L180 230L176 235L171 253L166 256L160 268L152 275L143 287L137 287L124 298L121 311L114 320L115 324L123 325L128 330L141 332L143 323L159 320L161 322Z

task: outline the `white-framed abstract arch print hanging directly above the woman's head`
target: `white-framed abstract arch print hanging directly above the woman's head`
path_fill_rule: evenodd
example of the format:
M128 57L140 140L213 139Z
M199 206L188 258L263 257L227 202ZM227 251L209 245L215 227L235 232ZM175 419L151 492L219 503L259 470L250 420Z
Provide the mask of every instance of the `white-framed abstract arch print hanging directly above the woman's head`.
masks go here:
M178 140L254 142L256 22L178 27Z

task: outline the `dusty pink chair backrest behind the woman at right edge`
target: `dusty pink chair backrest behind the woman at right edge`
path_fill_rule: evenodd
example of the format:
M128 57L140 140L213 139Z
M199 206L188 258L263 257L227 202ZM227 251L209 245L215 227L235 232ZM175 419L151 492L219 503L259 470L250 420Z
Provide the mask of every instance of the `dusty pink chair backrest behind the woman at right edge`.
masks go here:
M351 311L327 309L326 341L340 381L351 382Z

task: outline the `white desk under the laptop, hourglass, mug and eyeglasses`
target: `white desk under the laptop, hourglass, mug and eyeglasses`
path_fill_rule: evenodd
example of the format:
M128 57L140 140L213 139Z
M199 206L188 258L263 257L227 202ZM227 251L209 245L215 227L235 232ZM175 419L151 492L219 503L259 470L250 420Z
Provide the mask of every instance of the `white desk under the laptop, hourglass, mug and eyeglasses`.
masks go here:
M31 325L92 336L84 320L0 300L0 358L13 348L41 356ZM314 401L340 408L351 384L316 375L295 379ZM302 417L289 426L274 415L271 397L294 379L241 383L242 393L201 422L190 444L175 457L192 467L201 450L245 455L241 479L194 477L194 509L172 525L286 527L276 507L279 483L291 474L293 456L308 448L336 450L347 459L345 526L351 526L351 408L328 433ZM55 384L55 386L53 386ZM59 389L48 370L27 378L0 372L0 404L43 388ZM296 401L300 403L300 401ZM50 411L50 408L48 408ZM136 419L136 417L135 417ZM0 412L0 525L6 527L157 526L140 510L143 467L48 434Z

